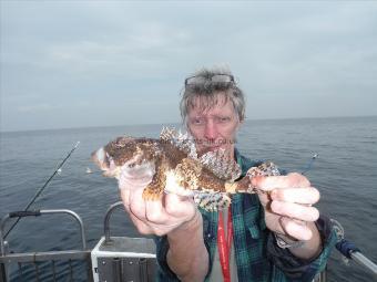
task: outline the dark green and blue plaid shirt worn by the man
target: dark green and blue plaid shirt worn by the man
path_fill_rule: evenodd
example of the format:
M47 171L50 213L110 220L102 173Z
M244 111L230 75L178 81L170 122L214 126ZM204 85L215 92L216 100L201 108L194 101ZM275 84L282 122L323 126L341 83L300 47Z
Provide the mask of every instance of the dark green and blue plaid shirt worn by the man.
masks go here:
M235 150L243 176L247 169L261 161L252 161ZM203 237L210 253L210 276L215 251L217 250L218 212L200 210L203 217ZM322 253L308 261L294 257L288 249L277 247L272 232L266 228L264 210L256 195L235 194L232 196L232 219L235 260L240 282L285 282L312 281L326 267L336 236L329 220L320 217L316 226L322 234ZM157 281L180 281L166 263L169 242L166 236L156 237L159 274Z

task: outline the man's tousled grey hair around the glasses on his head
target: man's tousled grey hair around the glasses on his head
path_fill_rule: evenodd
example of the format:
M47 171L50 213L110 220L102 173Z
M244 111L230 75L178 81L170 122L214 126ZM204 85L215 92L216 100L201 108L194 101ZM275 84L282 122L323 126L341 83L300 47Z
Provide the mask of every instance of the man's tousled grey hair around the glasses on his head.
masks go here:
M201 109L212 108L217 105L218 98L223 96L224 103L231 100L235 113L238 115L240 122L245 119L245 96L243 91L232 82L218 82L211 79L216 74L232 75L228 69L213 67L202 69L188 77L203 77L202 83L185 85L180 103L181 116L186 125L188 111L195 106L195 100L201 100Z

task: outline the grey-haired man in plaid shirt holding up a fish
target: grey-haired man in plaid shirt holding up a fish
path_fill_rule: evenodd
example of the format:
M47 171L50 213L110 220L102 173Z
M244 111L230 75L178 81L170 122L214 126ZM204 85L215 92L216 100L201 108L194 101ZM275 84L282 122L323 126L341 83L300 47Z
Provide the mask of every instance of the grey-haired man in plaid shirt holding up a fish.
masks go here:
M258 165L234 147L245 118L233 75L203 70L185 80L181 114L198 153L223 148L245 176ZM161 281L310 281L335 243L329 221L312 205L319 192L300 174L254 177L258 194L232 196L228 210L208 212L173 194L142 199L153 171L123 176L121 197L141 233L156 234Z

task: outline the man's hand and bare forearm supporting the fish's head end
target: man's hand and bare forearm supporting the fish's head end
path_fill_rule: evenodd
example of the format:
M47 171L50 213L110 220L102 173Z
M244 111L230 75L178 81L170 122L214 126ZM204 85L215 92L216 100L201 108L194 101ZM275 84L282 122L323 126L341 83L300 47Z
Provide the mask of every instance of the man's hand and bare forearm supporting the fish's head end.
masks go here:
M203 281L208 271L208 253L203 240L203 219L193 199L163 194L160 199L144 200L154 167L143 165L122 173L121 198L131 220L143 234L167 234L166 260L181 281Z

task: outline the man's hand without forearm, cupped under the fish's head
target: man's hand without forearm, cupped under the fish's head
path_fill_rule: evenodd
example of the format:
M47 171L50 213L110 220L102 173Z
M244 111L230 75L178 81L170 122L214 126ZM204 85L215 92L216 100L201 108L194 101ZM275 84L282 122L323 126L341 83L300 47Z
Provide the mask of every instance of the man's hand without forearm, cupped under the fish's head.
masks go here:
M151 182L154 167L150 164L122 171L119 179L121 198L131 220L143 234L163 236L191 221L196 212L192 199L173 194L157 200L144 200L144 188Z

